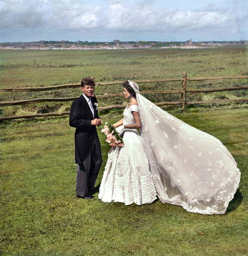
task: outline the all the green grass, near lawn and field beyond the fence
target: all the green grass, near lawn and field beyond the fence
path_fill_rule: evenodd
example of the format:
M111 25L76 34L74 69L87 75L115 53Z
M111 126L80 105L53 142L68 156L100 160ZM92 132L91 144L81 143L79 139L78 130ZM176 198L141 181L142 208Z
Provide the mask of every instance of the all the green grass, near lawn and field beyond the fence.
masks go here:
M243 46L205 49L120 51L0 51L0 88L95 81L247 75ZM201 49L202 50L202 49ZM211 50L211 55L209 51ZM236 52L222 54L220 51ZM203 51L203 50L202 50ZM214 54L215 51L215 54ZM242 54L239 52L242 51ZM177 58L177 54L182 55ZM188 57L188 54L194 55ZM168 59L167 59L168 55ZM191 82L190 88L247 85L247 79ZM140 84L141 90L180 88L179 82ZM121 92L120 85L96 87L96 94ZM78 88L33 93L1 93L0 101L79 96ZM178 95L147 95L154 102ZM247 98L246 91L189 97ZM167 98L166 98L167 99ZM109 101L108 101L109 100ZM123 98L99 99L99 105L125 104ZM1 108L0 115L69 110L71 102ZM0 123L0 255L248 255L248 104L163 107L184 122L217 137L234 156L240 186L224 215L201 215L162 204L124 206L75 195L74 132L68 116L19 119ZM116 122L122 111L100 112ZM103 163L109 145L98 128Z

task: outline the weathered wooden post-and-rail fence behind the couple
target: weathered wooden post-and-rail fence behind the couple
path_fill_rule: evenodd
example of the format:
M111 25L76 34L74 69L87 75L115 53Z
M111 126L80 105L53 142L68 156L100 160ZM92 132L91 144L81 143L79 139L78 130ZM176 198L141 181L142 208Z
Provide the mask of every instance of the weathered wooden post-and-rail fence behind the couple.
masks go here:
M207 80L219 80L219 79L247 79L248 76L219 76L219 77L200 77L200 78L188 78L186 72L183 72L183 77L180 79L156 79L156 80L136 80L136 83L154 83L154 82L173 82L181 81L182 89L181 90L159 90L159 91L142 91L141 94L153 94L153 93L180 93L181 101L179 102L158 102L155 103L157 106L163 105L180 105L184 109L186 105L191 104L203 104L203 103L227 103L227 102L248 102L248 99L239 99L239 100L205 100L205 101L186 101L187 93L199 93L199 92L223 92L223 91L235 91L235 90L248 90L248 86L238 86L238 87L225 87L225 88L212 88L212 89L193 89L187 90L187 81L207 81ZM93 78L94 79L94 78ZM104 83L95 83L95 86L111 85L111 84L122 84L124 81L114 81L114 82L104 82ZM64 84L57 86L49 87L26 87L26 88L3 88L0 89L0 92L38 92L38 91L48 91L48 90L58 90L64 88L73 88L79 87L80 84ZM113 94L104 94L96 95L97 98L106 98L106 97L116 97L121 96L122 93L113 93ZM13 106L13 105L24 105L24 104L33 104L38 102L49 102L49 101L71 101L75 100L78 97L71 98L43 98L43 99L33 99L33 100L18 100L18 101L9 101L9 102L0 102L1 106ZM110 105L105 107L98 108L98 111L109 110L113 108L125 108L125 105ZM10 119L19 119L19 118L31 118L31 117L41 117L41 116L63 116L69 115L70 112L53 112L45 114L32 114L32 115L22 115L22 116L6 116L1 117L0 120L10 120Z

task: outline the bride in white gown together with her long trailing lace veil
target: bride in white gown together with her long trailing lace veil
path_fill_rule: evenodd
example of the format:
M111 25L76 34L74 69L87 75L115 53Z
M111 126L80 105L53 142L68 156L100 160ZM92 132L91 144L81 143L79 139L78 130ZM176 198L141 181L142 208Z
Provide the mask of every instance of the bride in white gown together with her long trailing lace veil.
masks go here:
M123 86L129 103L113 126L124 147L109 151L99 198L140 205L158 197L188 212L225 213L240 181L227 148L147 100L136 83Z

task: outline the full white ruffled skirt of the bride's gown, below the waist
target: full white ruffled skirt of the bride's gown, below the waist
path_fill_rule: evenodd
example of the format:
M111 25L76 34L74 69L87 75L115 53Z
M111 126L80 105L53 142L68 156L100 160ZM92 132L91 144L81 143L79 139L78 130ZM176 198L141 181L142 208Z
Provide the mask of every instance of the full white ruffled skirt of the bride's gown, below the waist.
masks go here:
M124 133L124 147L109 150L99 198L103 202L150 204L156 200L156 189L144 151L143 140L132 130Z

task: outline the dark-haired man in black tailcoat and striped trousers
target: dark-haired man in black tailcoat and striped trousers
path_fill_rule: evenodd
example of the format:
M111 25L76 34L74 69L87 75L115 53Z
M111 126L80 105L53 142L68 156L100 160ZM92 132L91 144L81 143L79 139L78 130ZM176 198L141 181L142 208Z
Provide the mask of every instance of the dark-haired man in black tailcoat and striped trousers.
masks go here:
M98 116L97 100L94 96L94 81L91 77L81 82L83 94L71 105L70 126L76 127L75 160L77 169L77 197L92 199L89 192L95 191L95 181L101 167L101 147L96 126L102 124Z

